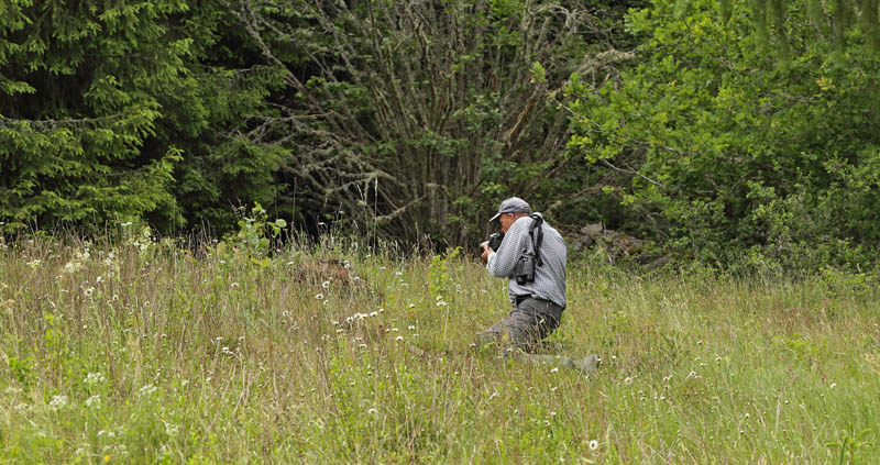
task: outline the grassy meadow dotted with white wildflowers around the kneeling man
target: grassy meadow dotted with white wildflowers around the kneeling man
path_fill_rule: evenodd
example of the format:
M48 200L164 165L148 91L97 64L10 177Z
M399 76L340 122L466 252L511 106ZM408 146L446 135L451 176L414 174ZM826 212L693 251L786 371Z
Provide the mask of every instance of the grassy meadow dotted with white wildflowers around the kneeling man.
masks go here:
M471 348L509 311L472 258L68 244L0 245L0 464L880 463L864 275L570 263L584 376Z

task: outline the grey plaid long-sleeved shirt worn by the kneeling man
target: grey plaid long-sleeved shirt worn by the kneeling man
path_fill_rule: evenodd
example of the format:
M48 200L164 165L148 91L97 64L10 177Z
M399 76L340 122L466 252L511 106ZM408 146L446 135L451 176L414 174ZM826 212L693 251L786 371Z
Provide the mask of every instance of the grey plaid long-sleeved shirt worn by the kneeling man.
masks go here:
M486 269L492 276L508 278L507 291L510 296L510 302L514 302L517 296L531 296L537 299L550 300L564 309L566 303L565 258L568 250L565 248L565 241L562 240L559 232L550 228L546 221L541 224L543 240L539 250L543 266L535 267L535 283L526 285L516 283L514 274L519 256L522 255L524 251L531 252L535 247L529 236L529 226L532 221L535 220L524 217L510 225L498 250L488 254ZM535 231L536 236L537 233Z

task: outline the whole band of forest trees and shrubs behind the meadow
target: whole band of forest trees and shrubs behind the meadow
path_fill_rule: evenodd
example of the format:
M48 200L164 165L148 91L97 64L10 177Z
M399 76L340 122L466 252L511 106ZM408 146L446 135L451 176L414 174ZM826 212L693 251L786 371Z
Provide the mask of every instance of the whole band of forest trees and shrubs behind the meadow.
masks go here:
M877 0L4 0L0 231L473 245L736 273L880 263Z

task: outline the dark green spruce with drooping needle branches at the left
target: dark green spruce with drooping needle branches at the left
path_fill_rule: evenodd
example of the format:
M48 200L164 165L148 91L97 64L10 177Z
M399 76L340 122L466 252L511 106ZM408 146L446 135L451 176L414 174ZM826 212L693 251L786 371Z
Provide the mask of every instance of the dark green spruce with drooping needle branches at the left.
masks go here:
M222 43L234 33L221 4L4 2L7 230L138 218L169 229L222 218L239 199L272 199L286 152L244 132L275 74Z

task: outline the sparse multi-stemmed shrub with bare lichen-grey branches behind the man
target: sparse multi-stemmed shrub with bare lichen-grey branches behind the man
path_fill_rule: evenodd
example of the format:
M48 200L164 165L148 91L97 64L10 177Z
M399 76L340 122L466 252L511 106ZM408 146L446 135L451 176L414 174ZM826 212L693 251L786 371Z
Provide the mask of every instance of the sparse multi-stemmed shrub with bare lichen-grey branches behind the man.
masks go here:
M582 62L608 44L579 2L242 1L235 14L288 70L286 118L260 140L295 153L299 208L410 242L472 243L513 193L549 207L580 160L546 92L614 62Z

